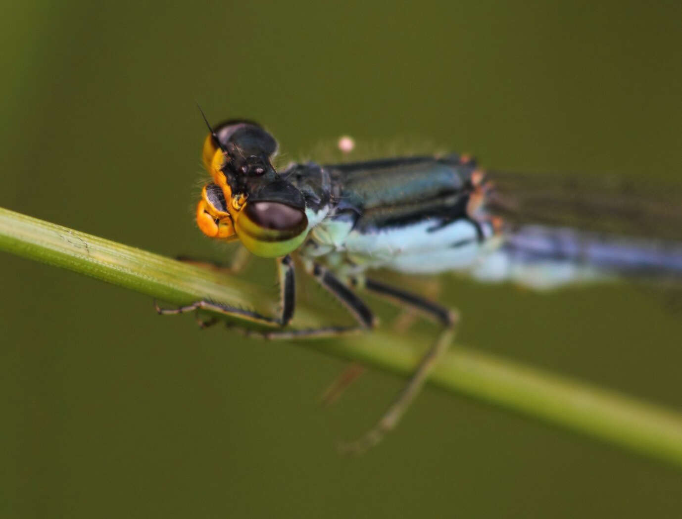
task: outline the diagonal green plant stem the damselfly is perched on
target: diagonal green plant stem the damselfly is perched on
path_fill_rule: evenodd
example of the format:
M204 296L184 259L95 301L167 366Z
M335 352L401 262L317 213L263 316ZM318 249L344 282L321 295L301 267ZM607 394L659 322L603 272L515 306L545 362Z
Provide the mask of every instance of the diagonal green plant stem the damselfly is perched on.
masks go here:
M241 278L1 208L0 250L125 286L169 303L186 304L208 297L237 306L271 309L268 291ZM297 322L310 325L321 321L320 318L310 308L297 308ZM240 325L251 323L243 321ZM417 342L428 344L430 340L425 336ZM409 374L419 357L414 339L408 342L386 331L299 344L398 374ZM447 391L682 468L681 413L461 346L445 355L429 381Z

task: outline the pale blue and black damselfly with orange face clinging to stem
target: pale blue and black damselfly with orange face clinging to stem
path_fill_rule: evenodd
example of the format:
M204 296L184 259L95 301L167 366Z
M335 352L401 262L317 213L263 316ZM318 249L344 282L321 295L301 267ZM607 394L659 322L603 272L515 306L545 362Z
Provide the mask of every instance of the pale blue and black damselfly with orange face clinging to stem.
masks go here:
M278 171L272 165L278 143L260 125L227 121L209 130L203 162L213 181L203 188L196 222L209 237L238 240L256 256L276 258L281 313L265 316L213 301L160 313L203 309L248 318L276 328L259 332L266 338L337 336L374 327L372 310L356 295L366 290L443 326L378 424L350 446L355 451L396 426L458 321L454 310L376 281L367 271L461 271L535 288L619 275L682 278L682 243L674 241L682 225L678 200L655 198L647 207L627 186L559 185L532 175L525 180L535 189L505 198L504 188L522 175L488 175L456 154L291 164ZM625 237L623 222L668 241ZM348 308L355 327L287 328L295 309L291 254Z

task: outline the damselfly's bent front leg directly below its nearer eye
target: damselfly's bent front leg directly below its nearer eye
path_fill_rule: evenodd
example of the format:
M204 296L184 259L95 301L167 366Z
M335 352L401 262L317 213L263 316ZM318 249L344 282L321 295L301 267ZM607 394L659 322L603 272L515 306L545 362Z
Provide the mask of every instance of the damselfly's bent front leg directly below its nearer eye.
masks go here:
M237 308L207 300L195 301L190 305L181 306L179 308L160 308L160 306L155 303L156 311L162 315L173 315L184 314L194 310L209 310L210 312L216 312L227 316L246 318L249 321L253 321L254 323L284 327L288 325L289 321L291 321L291 317L293 316L296 299L296 283L294 266L293 261L291 261L291 257L287 255L283 258L278 258L277 262L280 286L282 287L282 310L280 312L280 316L278 317L264 316L262 314L258 314L258 312L254 312L253 310L246 310L243 308ZM214 319L211 319L210 321L199 321L199 324L202 327L206 327L213 324L213 322Z

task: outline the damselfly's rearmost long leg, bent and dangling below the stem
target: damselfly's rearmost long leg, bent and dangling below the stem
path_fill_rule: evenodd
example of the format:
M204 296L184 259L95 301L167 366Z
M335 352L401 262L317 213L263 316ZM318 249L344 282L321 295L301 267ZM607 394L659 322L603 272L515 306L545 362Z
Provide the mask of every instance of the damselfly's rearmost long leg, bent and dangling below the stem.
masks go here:
M370 447L373 447L383 439L383 436L385 436L387 432L395 428L402 415L407 411L412 400L419 394L419 390L426 382L428 374L434 366L436 366L443 353L447 351L454 338L454 329L458 321L458 314L454 310L428 301L418 295L402 291L400 288L394 288L373 280L364 280L364 283L359 283L356 280L355 283L364 286L366 290L375 293L376 295L386 297L396 303L414 308L422 314L441 323L445 329L443 329L436 339L436 342L434 342L426 354L424 354L424 357L421 357L410 380L402 391L398 393L395 400L381 416L376 426L364 434L359 440L341 446L342 451L350 454L360 454Z

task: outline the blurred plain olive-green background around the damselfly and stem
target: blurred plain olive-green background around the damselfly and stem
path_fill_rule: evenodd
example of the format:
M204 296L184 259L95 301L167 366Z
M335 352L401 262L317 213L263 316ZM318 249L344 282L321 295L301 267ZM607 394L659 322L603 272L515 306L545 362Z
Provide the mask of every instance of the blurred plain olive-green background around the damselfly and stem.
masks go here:
M192 221L195 101L261 121L292 159L340 134L418 136L490 168L679 181L680 5L5 2L0 206L220 259ZM434 389L340 457L402 379L370 372L321 409L341 361L8 254L0 269L3 517L680 513L674 469ZM441 282L462 344L682 409L665 297Z

